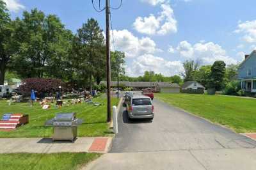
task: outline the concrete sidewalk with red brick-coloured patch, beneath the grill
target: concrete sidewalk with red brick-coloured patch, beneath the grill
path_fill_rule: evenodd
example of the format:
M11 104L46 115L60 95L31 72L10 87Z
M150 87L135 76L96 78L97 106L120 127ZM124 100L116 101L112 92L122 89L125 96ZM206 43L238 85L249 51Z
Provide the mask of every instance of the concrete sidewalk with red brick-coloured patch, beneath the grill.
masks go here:
M52 142L51 138L0 138L0 153L107 153L111 147L111 141L112 137L78 137L74 143Z

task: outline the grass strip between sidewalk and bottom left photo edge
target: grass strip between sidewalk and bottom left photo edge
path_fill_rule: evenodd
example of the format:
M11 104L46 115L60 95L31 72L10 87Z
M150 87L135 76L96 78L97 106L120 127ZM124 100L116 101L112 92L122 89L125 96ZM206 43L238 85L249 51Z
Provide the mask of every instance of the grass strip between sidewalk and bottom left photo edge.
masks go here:
M79 169L100 155L99 153L7 153L0 154L0 169Z

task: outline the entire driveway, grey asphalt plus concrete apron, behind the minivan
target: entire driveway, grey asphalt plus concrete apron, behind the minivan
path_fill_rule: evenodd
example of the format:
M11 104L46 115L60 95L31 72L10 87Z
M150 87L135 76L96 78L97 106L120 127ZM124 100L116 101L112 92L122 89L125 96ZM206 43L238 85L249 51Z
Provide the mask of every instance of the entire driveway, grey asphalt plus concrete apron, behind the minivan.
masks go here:
M256 141L154 100L153 121L125 111L111 153L88 169L255 169Z

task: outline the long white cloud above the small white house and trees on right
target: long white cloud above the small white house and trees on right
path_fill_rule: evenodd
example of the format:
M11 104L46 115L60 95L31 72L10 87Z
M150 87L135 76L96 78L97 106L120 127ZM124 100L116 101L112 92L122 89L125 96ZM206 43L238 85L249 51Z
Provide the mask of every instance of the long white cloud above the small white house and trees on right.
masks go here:
M195 43L191 45L187 41L180 42L177 51L185 59L199 59L202 65L209 65L216 60L222 60L226 64L236 64L237 61L227 56L222 47L213 42Z

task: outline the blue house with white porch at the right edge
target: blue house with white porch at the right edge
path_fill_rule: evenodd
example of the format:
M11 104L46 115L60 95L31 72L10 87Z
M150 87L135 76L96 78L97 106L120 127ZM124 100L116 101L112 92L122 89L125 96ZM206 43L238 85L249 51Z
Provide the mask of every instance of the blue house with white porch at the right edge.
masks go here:
M244 61L238 68L238 79L241 81L241 89L256 93L256 50L244 56Z

